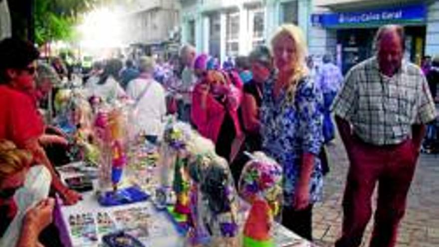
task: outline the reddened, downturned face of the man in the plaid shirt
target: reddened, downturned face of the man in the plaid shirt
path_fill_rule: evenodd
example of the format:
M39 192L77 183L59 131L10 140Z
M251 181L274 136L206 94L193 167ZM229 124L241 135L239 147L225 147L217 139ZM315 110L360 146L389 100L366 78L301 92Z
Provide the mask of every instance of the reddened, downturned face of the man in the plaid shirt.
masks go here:
M378 44L378 63L381 72L387 76L394 75L401 67L402 60L401 38L395 32L383 34Z

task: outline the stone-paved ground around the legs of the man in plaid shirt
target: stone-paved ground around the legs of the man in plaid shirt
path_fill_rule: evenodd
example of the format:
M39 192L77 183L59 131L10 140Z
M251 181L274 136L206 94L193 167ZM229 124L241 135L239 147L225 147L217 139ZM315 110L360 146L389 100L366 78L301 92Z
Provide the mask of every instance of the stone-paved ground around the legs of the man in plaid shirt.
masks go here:
M341 233L342 197L348 159L340 138L328 147L331 172L324 180L321 203L313 210L313 237L321 247L334 246ZM374 201L376 195L374 195ZM375 205L373 206L375 211ZM362 247L368 247L373 218ZM400 225L397 247L439 247L439 155L421 154L409 192L407 211Z

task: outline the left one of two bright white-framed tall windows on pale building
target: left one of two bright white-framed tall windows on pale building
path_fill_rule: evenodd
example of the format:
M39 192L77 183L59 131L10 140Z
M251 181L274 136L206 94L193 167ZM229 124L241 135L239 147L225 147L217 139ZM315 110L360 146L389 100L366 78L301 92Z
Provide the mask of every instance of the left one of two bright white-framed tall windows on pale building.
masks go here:
M228 12L225 17L225 53L227 56L237 56L239 51L239 12Z

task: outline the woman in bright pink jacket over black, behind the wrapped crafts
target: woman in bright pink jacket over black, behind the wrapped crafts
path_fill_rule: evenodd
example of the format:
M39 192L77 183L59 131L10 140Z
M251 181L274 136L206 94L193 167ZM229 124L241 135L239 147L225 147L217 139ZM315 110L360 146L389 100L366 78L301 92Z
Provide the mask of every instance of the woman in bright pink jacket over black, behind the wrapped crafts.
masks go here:
M229 160L231 144L242 134L237 109L242 83L235 75L209 70L201 76L192 97L192 121L211 139L219 156Z

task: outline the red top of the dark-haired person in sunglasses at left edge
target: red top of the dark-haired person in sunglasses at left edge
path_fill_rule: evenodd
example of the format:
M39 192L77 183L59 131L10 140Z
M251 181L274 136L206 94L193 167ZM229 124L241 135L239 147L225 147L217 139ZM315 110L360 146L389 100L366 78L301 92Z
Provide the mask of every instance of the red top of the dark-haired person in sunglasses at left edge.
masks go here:
M0 85L0 139L22 148L32 138L39 138L44 123L33 99L16 89Z

